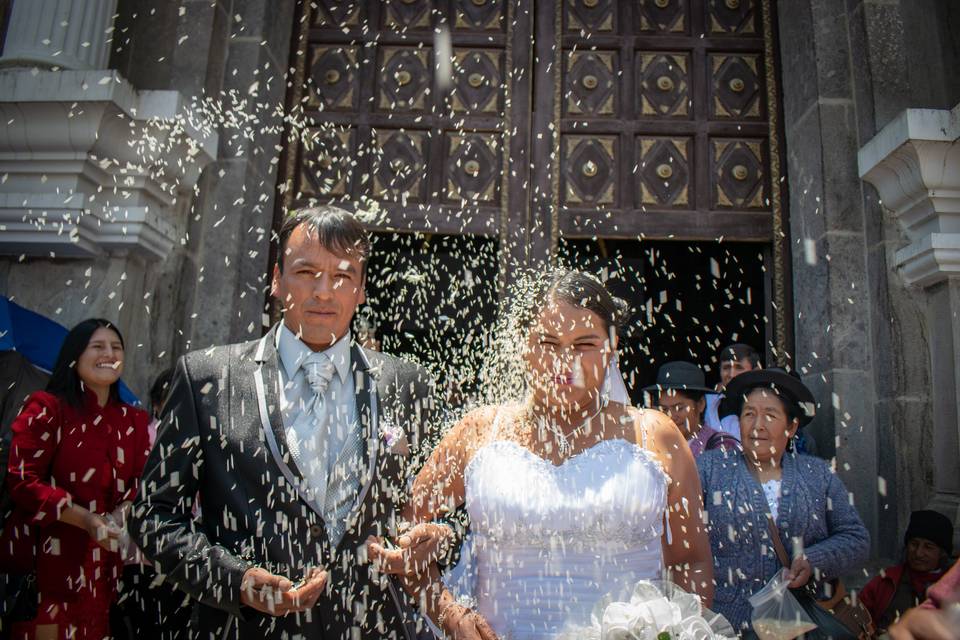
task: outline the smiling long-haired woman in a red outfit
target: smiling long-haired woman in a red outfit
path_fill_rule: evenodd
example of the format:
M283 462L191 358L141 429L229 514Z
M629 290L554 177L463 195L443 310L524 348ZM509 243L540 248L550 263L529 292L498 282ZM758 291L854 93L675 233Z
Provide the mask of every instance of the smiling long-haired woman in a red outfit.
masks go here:
M16 638L100 640L122 572L126 513L149 450L149 416L120 401L123 338L106 320L75 326L45 391L13 423L7 488L15 510L0 554L35 558L36 619ZM36 544L35 554L31 547Z

